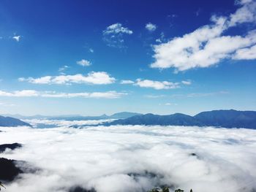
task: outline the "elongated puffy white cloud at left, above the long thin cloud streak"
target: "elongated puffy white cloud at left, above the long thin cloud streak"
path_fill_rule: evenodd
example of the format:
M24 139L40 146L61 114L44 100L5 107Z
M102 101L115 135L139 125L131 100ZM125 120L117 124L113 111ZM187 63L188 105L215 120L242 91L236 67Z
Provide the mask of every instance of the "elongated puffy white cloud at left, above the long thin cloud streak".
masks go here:
M107 72L90 72L87 75L59 75L59 76L45 76L39 78L24 78L18 79L20 82L27 81L34 84L71 84L71 83L85 83L95 85L106 85L116 81L114 77L110 77Z

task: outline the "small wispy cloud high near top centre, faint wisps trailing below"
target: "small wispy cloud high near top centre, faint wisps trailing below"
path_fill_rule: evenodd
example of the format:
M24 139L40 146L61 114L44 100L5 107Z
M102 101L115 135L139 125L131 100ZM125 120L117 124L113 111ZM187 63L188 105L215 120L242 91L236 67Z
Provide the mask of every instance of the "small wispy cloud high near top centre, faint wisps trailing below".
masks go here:
M115 23L102 31L103 40L110 47L122 48L124 46L124 35L131 35L133 31L123 27L121 23Z

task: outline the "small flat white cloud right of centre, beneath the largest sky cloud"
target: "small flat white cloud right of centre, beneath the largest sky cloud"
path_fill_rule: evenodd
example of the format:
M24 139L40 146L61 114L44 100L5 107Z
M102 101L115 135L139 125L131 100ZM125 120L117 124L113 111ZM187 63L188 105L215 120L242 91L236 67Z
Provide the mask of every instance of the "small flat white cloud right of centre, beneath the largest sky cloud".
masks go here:
M167 81L154 81L154 80L140 80L138 79L134 85L138 85L141 88L154 88L154 89L173 89L179 88L178 82L167 82Z

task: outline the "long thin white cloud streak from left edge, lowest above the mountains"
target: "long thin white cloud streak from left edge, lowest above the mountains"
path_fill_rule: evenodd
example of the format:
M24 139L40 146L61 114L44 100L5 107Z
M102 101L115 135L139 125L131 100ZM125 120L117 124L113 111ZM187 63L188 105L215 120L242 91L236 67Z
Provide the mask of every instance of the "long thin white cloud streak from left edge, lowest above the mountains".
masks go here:
M48 98L105 98L105 99L116 99L121 96L127 95L127 93L120 93L116 91L107 92L82 92L82 93L58 93L55 91L35 91L35 90L23 90L23 91L0 91L0 96L10 96L10 97L48 97Z

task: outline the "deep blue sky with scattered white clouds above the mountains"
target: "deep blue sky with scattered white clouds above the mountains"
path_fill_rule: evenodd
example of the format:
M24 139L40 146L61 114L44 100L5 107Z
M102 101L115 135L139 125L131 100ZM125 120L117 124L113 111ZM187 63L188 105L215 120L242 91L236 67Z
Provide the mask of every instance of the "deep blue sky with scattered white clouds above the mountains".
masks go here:
M256 2L0 1L0 113L256 109Z

